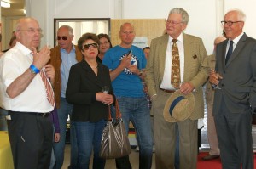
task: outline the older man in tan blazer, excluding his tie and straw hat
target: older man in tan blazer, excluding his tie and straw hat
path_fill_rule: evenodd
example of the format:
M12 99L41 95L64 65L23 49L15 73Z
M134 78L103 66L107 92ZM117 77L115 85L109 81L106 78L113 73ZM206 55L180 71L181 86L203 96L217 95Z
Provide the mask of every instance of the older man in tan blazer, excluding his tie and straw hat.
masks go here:
M207 51L199 37L182 31L187 27L189 14L183 8L173 8L166 21L166 35L155 38L146 69L148 92L152 98L154 113L155 165L157 169L174 168L175 127L179 132L180 168L195 169L197 161L197 120L203 118L204 104L202 85L207 82L209 68ZM188 119L167 122L163 117L166 100L174 93L171 84L172 39L177 39L180 75L183 94L193 93L195 110Z

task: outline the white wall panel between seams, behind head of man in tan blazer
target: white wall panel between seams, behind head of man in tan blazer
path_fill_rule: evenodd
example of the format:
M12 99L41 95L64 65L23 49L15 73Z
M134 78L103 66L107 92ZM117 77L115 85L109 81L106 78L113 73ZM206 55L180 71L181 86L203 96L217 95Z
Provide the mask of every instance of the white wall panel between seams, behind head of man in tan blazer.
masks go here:
M124 1L123 11L127 19L150 19L167 18L172 8L184 8L189 13L189 25L185 32L201 37L207 53L212 54L213 40L218 36L215 28L217 5L212 0L127 0Z

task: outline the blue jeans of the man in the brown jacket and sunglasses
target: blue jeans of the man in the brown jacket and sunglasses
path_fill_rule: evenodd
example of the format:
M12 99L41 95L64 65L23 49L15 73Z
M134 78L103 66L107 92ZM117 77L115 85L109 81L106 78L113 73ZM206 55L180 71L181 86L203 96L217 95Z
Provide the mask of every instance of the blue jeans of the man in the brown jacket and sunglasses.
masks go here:
M59 143L54 144L56 169L61 169L64 161L64 149L66 143L66 130L67 130L67 117L72 116L73 104L68 104L65 98L61 98L61 106L58 109L58 117L60 123L60 135L61 139ZM75 128L73 122L70 122L70 144L71 144L71 155L70 155L70 166L68 168L75 168L78 161L78 145L77 138L75 135Z

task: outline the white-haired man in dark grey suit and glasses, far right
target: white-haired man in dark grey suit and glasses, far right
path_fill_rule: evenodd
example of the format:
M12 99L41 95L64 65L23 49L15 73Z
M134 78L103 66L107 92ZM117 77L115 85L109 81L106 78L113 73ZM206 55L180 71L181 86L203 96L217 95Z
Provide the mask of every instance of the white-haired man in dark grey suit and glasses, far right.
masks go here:
M245 14L236 9L224 15L226 41L216 48L219 78L211 72L215 91L213 116L223 168L253 169L252 108L256 107L256 40L242 29Z

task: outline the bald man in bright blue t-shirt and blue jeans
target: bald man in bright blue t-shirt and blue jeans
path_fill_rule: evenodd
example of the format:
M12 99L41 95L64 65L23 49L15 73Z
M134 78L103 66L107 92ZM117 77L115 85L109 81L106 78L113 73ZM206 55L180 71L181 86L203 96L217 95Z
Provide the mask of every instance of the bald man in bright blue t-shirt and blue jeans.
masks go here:
M110 48L102 63L110 70L113 91L119 102L119 109L128 133L129 121L133 123L137 132L139 144L139 167L151 168L152 164L152 136L148 130L150 114L148 101L143 92L143 71L147 59L141 48L132 45L135 31L131 23L124 23L120 27L121 43ZM129 156L116 159L117 168L131 168Z

